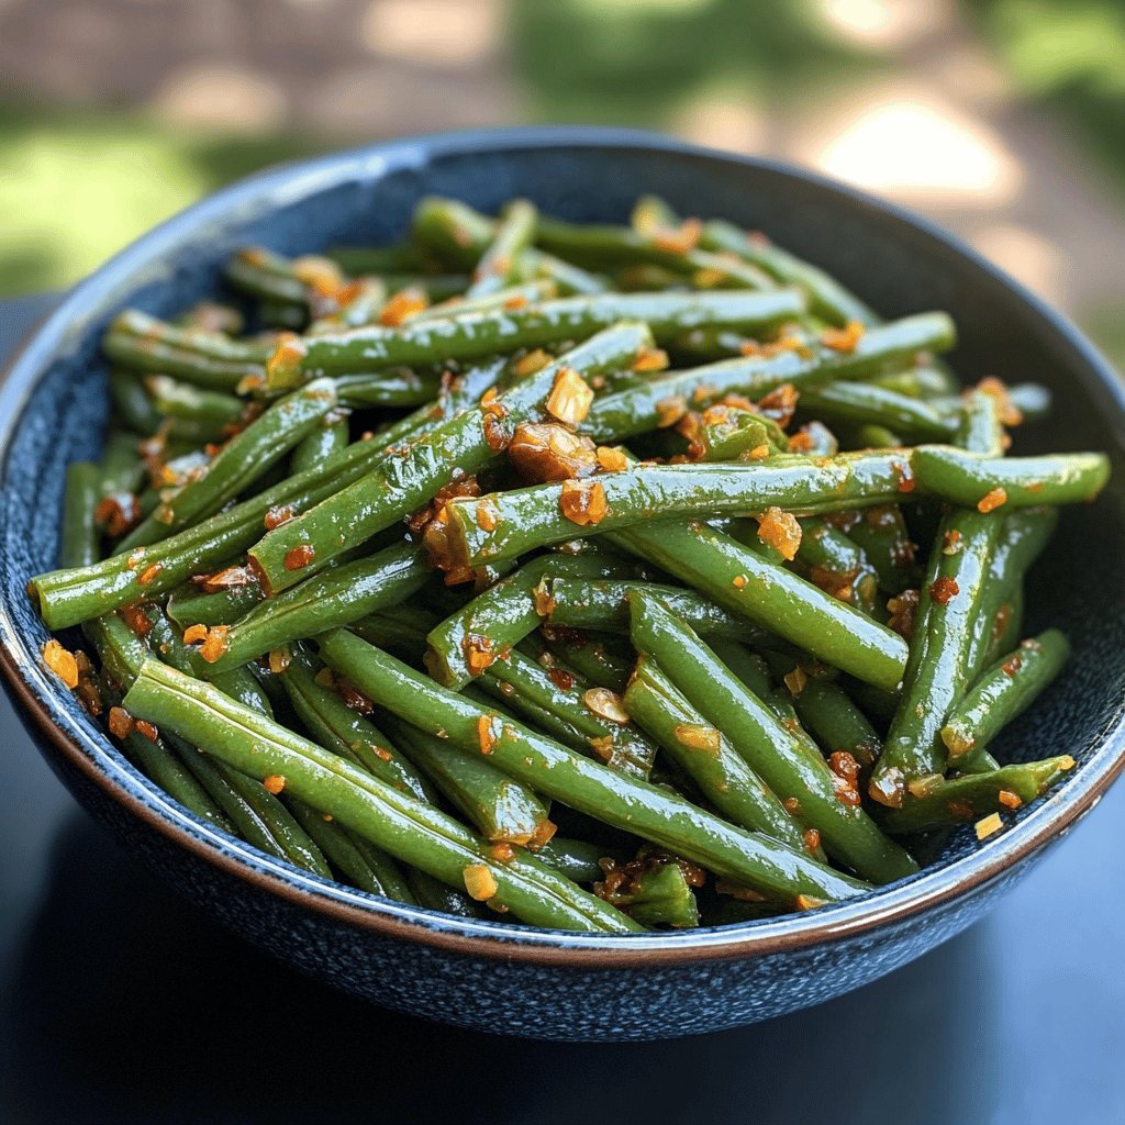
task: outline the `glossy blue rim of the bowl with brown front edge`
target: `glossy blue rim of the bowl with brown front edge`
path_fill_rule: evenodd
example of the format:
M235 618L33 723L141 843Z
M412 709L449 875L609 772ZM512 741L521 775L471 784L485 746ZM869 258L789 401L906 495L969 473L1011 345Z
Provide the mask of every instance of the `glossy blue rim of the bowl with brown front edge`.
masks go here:
M1060 348L1072 352L1086 389L1108 398L1125 421L1125 385L1070 321L960 240L898 205L783 161L722 152L658 133L592 126L520 126L410 136L281 164L219 189L142 235L71 290L32 331L0 372L0 484L6 475L8 447L22 421L34 386L68 338L73 338L74 325L84 330L91 309L100 304L107 289L126 287L144 267L158 261L200 224L263 204L276 206L348 177L363 178L446 156L525 148L646 151L702 159L765 170L843 197L882 220L901 224L928 237L946 253L968 259L1008 289L1054 333ZM150 828L258 890L388 938L487 958L576 969L655 968L699 958L764 956L857 937L903 921L966 898L1001 879L1068 831L1125 770L1125 716L1122 716L1102 734L1089 760L1060 789L1034 806L1002 836L953 863L856 899L777 919L673 933L580 934L537 929L500 919L462 919L393 902L302 872L212 828L129 766L104 735L92 737L64 711L52 710L47 701L61 699L61 688L53 677L45 675L37 654L24 642L7 604L0 604L0 670L9 692L43 736L40 747L50 745Z

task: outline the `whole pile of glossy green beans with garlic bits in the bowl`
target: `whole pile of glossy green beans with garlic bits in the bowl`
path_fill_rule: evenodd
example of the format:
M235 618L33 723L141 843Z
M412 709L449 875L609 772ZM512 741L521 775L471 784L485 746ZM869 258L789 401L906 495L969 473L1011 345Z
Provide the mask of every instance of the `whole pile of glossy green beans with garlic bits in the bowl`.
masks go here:
M962 389L945 313L655 197L428 198L224 279L110 324L105 456L28 584L45 665L214 830L636 933L910 879L1073 766L1001 736L1070 652L1027 573L1108 462L1009 456L1050 395Z

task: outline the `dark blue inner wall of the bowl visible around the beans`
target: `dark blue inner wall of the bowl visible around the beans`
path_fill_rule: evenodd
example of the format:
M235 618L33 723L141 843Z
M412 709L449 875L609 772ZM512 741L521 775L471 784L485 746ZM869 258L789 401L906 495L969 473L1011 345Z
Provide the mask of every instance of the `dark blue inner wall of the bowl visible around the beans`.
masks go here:
M566 218L622 220L646 191L665 196L685 214L723 216L766 232L838 276L886 317L951 312L961 336L952 360L963 379L998 375L1040 381L1054 393L1051 420L1016 432L1017 452L1110 452L1114 477L1106 493L1096 505L1063 513L1027 591L1026 631L1064 628L1074 646L1072 663L994 749L1001 758L1020 760L1069 753L1088 767L1074 771L1050 800L1023 810L1017 821L1052 816L1052 806L1083 784L1095 757L1102 773L1119 765L1112 759L1123 753L1125 708L1125 583L1118 569L1125 554L1125 406L1104 361L1009 279L893 208L768 163L600 130L403 142L270 172L165 224L62 306L18 360L0 414L7 428L0 641L58 724L130 776L137 792L158 800L73 698L39 669L46 632L24 588L29 576L54 565L65 466L97 457L100 449L107 392L98 338L114 313L133 305L171 315L219 292L223 262L248 243L297 253L397 238L414 204L431 192L485 210L526 196ZM1108 732L1114 737L1107 739ZM1026 827L1005 837L1010 843ZM971 830L961 830L938 863L963 866L978 849ZM379 900L370 903L382 909Z

